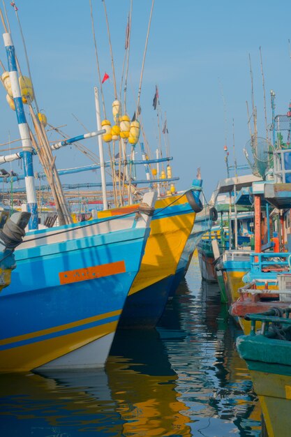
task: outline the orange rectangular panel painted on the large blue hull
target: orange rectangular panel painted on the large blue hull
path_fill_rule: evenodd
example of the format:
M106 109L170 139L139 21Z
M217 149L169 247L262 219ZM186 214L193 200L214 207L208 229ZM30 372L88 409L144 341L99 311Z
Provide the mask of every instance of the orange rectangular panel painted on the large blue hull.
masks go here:
M110 262L109 264L94 265L86 269L68 270L59 273L61 285L78 281L88 281L89 279L103 278L112 274L125 273L126 265L124 261Z

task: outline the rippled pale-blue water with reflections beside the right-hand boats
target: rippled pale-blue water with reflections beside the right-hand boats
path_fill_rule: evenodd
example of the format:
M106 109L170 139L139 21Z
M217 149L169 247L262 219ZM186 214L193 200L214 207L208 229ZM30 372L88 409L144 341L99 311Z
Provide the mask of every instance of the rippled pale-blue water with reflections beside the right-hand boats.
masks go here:
M229 320L218 286L202 281L199 287L198 281L201 283L197 258L193 258L172 307L167 306L171 316L173 311L177 313L179 330L167 323L167 311L159 326L178 375L179 400L189 408L191 435L260 436L260 403L246 364L234 350L241 332Z

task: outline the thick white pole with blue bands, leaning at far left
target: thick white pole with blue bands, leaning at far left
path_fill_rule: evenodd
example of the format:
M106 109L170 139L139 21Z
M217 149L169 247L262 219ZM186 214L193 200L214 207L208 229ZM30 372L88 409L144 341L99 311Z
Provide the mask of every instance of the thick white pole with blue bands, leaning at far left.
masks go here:
M31 218L29 220L29 230L33 230L38 229L38 204L36 199L36 188L34 186L32 145L29 135L29 126L27 125L27 119L24 114L20 84L18 82L15 48L12 42L11 35L9 33L3 34L3 40L6 47L8 71L11 82L11 89L13 92L13 100L17 115L18 128L20 131L20 138L22 140L22 159L24 163L25 187L27 191L27 210L31 213Z

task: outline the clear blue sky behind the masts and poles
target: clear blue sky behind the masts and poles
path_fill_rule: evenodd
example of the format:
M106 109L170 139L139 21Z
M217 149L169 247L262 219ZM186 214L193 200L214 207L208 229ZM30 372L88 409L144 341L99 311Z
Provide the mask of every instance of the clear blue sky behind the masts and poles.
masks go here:
M22 70L27 73L15 13L10 1L5 3L17 55ZM96 130L93 87L97 84L97 73L89 0L18 0L15 3L27 43L38 104L48 121L54 126L66 124L64 131L68 135L80 135L84 129L72 117L73 113L90 131ZM104 84L107 112L110 113L114 93L103 3L101 0L92 0L92 3L100 70L102 75L105 72L110 75L110 82ZM129 3L129 0L106 0L118 89ZM134 112L140 80L150 7L151 0L133 0L128 85L130 115ZM180 177L177 188L188 188L200 167L204 191L209 198L218 179L226 176L225 135L230 163L233 163L232 119L237 161L246 162L242 149L249 139L246 114L246 101L251 106L249 53L253 64L255 105L258 106L258 135L265 136L260 46L268 122L271 123L271 89L276 92L276 113L287 112L291 98L290 13L290 0L155 1L142 84L142 119L154 150L157 127L152 101L157 84L161 109L167 112L174 156L172 168L174 175ZM6 64L3 44L0 45L0 59ZM1 89L1 143L6 142L9 135L11 140L19 138L15 113L8 108L5 96L6 92ZM96 150L95 141L86 145ZM59 151L56 162L58 168L91 163L75 147ZM6 169L9 168L10 165L6 165ZM13 170L22 172L19 164L13 164ZM80 178L62 180L75 183L99 181L100 178L98 173L90 172Z

